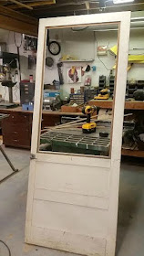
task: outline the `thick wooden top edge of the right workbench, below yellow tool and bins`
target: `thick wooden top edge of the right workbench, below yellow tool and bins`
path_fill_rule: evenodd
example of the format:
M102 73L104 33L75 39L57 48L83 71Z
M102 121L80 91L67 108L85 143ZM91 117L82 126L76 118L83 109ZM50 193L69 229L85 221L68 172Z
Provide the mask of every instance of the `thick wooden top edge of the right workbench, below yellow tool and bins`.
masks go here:
M91 100L89 105L95 105L103 109L112 109L113 100L109 98L108 100ZM144 110L144 101L125 101L126 110Z

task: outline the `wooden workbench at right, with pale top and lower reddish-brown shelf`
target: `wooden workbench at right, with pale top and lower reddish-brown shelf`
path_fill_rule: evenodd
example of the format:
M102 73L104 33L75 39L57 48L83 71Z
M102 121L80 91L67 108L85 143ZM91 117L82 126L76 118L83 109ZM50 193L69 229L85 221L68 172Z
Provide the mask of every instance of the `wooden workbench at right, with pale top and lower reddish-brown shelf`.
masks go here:
M89 105L97 106L102 109L112 109L113 100L109 98L108 100L91 100ZM144 112L144 101L125 101L125 110L131 110L132 112L143 111ZM123 147L121 151L122 155L144 157L144 151L139 150L136 146L133 147Z

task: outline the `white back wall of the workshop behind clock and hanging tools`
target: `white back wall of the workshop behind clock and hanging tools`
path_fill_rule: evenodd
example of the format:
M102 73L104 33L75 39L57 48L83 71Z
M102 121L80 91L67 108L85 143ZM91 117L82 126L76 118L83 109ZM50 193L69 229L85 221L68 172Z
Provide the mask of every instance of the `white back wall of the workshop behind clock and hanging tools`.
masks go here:
M52 83L53 80L58 80L58 72L57 72L57 62L58 59L63 54L69 54L76 56L81 59L95 59L92 63L68 63L63 65L63 75L64 80L66 82L66 69L71 66L84 66L85 64L89 64L90 66L96 66L96 71L90 71L82 77L82 82L77 84L67 84L61 86L61 89L67 93L70 92L70 88L74 87L77 91L80 86L84 84L85 77L87 75L91 75L92 77L92 86L98 86L98 77L99 75L106 75L108 77L109 70L115 64L115 57L110 55L108 52L108 56L101 56L98 59L97 55L97 42L98 46L100 45L108 45L108 48L113 47L117 43L117 31L105 31L105 32L92 32L92 31L80 31L71 33L70 29L57 31L53 29L49 32L50 40L54 39L60 42L62 46L61 53L54 57L50 55L49 51L46 49L46 57L51 56L54 59L54 67L53 69L49 69L46 67L45 69L45 83ZM21 42L21 35L15 33L15 39L17 45ZM0 29L0 41L7 43L7 51L16 53L15 41L14 41L14 32L7 31L4 29ZM129 53L130 54L144 54L144 49L132 50L132 48L143 48L144 41L144 33L143 29L140 30L131 30L130 32L130 42L129 42ZM28 55L31 52L27 51L24 53L23 45L20 48L20 60L21 60L21 75L22 80L28 79L30 74L34 75L35 78L35 70L28 69ZM106 69L107 68L107 69ZM128 79L135 80L144 80L144 64L134 64L132 69L128 72ZM15 80L17 80L17 85L14 87L14 101L19 101L19 76L15 76ZM5 87L0 85L0 94L5 97L5 100L8 100L8 90ZM65 94L65 93L64 93Z

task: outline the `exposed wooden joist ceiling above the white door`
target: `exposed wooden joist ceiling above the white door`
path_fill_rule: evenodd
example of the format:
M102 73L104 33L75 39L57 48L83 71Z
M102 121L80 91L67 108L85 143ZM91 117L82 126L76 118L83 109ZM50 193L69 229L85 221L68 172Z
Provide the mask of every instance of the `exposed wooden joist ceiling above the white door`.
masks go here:
M23 6L12 4L14 1ZM1 5L36 18L144 10L142 0L119 5L114 5L112 0L0 0Z

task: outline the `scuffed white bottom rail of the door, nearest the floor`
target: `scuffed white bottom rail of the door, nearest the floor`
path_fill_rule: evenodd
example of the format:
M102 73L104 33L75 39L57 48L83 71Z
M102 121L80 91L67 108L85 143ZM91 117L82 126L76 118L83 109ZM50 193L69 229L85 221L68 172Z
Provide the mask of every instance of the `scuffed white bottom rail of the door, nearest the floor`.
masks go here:
M73 234L62 230L41 229L32 226L31 240L28 240L28 242L78 254L88 255L89 251L91 251L90 256L106 255L106 240L89 236L88 234ZM85 244L87 244L87 247L84 246Z

